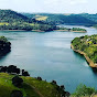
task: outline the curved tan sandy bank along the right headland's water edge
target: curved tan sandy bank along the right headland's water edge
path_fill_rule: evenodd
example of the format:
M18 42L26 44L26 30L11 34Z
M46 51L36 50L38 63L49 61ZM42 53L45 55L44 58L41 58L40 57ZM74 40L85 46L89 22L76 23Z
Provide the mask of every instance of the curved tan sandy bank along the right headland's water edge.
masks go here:
M97 68L97 64L95 64L87 55L86 53L79 51L79 50L75 50L74 46L71 44L71 47L74 52L77 52L82 55L84 55L84 57L86 58L87 63L89 64L90 67L96 67Z

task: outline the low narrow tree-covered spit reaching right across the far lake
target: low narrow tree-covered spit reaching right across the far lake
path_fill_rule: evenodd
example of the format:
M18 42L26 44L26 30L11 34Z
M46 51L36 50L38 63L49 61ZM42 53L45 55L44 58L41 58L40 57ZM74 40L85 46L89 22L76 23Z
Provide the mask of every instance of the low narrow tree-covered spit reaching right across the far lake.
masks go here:
M72 28L72 29L68 29L68 28L58 28L56 31L82 32L82 33L87 32L85 29L80 29L80 28Z

